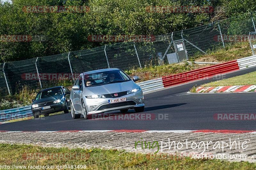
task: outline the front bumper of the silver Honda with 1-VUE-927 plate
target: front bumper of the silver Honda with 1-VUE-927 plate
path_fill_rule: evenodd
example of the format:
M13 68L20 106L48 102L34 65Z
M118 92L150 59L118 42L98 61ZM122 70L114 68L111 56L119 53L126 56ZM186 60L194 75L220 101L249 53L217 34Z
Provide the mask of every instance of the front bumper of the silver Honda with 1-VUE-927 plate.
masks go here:
M118 103L108 103L108 100L118 99L118 98L126 98L124 102ZM140 100L138 100L140 99ZM140 102L141 101L141 102ZM87 99L86 98L86 109L88 111L88 115L103 113L107 111L113 110L121 110L126 108L134 108L134 107L143 107L144 105L144 96L142 91L134 92L131 94L127 94L117 98L101 98L101 99ZM91 106L95 106L94 109L91 110Z

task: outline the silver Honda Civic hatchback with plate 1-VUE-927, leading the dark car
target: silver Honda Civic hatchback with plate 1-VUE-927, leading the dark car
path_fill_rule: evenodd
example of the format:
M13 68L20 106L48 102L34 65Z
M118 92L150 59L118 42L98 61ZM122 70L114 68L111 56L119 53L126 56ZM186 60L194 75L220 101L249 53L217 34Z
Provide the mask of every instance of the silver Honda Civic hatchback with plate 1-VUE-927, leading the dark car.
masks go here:
M144 111L144 96L139 85L120 69L102 69L84 72L76 79L70 93L70 107L73 119L81 115L87 119L90 114L112 110L127 112Z

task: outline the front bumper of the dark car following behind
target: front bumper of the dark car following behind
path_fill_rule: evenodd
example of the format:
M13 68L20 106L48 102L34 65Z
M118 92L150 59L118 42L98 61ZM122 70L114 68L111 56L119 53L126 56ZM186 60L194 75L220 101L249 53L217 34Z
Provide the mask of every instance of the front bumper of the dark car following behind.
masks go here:
M31 107L32 113L33 114L38 114L38 115L44 115L44 114L51 114L51 113L60 112L60 111L63 111L65 109L65 105L62 102L47 105L47 106L51 106L51 108L42 110L42 107L36 107L36 108Z

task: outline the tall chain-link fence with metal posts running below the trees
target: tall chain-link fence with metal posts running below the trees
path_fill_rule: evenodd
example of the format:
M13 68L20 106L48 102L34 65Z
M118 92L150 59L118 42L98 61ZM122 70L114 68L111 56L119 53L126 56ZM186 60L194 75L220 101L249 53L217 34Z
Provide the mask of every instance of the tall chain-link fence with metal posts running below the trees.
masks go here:
M0 94L18 92L22 86L46 88L50 81L63 77L74 79L90 70L120 68L130 70L148 65L185 61L234 43L248 41L249 32L256 32L255 12L244 14L155 37L150 42L122 42L89 50L0 63ZM174 61L175 62L175 61Z

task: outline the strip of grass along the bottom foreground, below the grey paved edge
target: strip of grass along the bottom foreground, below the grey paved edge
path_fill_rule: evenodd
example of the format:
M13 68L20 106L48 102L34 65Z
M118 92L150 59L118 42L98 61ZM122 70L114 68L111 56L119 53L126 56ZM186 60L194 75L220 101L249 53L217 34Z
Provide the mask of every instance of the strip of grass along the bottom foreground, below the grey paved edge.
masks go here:
M0 150L3 151L0 152L0 165L11 167L12 165L55 167L86 165L86 169L256 169L255 163L248 162L190 158L149 159L148 154L105 149L43 148L25 144L0 144ZM45 156L44 159L38 159L41 155ZM55 157L52 159L48 155ZM63 155L68 155L68 159Z

